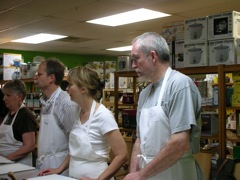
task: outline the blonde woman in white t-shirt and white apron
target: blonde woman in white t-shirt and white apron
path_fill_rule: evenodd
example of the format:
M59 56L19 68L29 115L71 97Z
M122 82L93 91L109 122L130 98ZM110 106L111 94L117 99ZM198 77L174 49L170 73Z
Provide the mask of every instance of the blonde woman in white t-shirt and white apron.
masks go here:
M127 147L112 112L95 101L103 84L98 74L87 67L73 68L68 81L67 91L81 107L69 137L70 153L59 168L46 169L40 175L59 174L69 167L73 178L113 180L127 160ZM110 148L115 157L108 165Z

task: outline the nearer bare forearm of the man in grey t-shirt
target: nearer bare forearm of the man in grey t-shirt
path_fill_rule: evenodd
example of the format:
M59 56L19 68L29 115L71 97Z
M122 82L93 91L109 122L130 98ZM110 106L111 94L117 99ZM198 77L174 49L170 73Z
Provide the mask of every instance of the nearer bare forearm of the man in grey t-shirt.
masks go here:
M137 172L128 174L124 180L145 180L154 176L175 164L188 150L189 132L173 134L165 147L149 164Z

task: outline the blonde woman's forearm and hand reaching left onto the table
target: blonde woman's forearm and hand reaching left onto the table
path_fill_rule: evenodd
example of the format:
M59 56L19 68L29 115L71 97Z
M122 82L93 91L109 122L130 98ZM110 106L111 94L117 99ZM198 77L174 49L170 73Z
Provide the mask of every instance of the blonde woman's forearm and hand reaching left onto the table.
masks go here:
M69 162L70 162L70 155L67 155L67 157L65 158L63 163L58 168L44 169L38 173L38 176L45 176L45 175L50 175L50 174L61 174L63 171L68 169Z

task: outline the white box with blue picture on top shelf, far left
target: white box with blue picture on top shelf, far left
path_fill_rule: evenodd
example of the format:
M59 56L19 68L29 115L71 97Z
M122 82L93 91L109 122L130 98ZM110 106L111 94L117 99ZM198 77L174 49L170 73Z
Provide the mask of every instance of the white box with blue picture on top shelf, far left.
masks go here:
M21 54L3 53L0 55L0 80L20 78Z

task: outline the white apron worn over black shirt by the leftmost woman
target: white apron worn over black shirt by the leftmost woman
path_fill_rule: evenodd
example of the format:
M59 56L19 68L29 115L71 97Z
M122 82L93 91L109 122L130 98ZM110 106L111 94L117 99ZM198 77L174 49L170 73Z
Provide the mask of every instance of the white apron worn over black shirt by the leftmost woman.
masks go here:
M22 107L25 106L22 104L19 109L21 109ZM21 141L18 141L14 138L12 127L17 117L18 111L14 115L12 123L10 125L4 124L7 121L9 114L5 116L2 124L0 125L0 154L2 154L3 156L12 154L13 152L17 151L20 147L23 146L23 143ZM32 166L32 153L29 153L24 158L18 160L17 163Z

